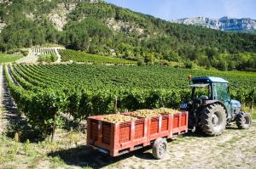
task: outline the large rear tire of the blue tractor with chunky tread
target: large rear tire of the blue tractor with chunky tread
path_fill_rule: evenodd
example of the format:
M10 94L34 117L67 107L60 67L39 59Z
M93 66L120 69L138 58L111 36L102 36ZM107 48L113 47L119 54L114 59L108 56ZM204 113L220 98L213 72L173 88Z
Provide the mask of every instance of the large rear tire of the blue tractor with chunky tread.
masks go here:
M226 111L221 104L210 104L201 114L201 131L208 136L220 135L226 127Z

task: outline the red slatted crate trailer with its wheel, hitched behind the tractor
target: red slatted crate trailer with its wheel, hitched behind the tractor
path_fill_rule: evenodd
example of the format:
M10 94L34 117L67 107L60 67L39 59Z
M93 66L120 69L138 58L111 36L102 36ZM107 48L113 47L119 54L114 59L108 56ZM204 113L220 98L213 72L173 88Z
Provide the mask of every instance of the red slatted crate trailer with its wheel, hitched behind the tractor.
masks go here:
M102 153L118 156L152 145L153 155L162 159L166 155L166 139L188 132L188 112L141 117L133 121L102 121L106 115L90 116L87 121L87 145Z

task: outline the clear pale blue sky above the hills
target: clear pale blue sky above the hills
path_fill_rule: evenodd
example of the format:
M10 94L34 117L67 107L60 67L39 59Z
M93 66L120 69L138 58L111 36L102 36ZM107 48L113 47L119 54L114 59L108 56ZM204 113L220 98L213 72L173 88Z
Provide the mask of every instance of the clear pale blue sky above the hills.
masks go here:
M106 0L165 20L206 16L256 19L256 0Z

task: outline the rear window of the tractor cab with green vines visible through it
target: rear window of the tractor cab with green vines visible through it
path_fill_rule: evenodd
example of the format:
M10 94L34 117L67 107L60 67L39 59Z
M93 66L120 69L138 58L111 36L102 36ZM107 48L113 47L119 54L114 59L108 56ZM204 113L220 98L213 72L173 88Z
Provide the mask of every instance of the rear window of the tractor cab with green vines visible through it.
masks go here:
M193 84L192 87L192 98L191 99L209 99L211 98L211 89L209 84Z

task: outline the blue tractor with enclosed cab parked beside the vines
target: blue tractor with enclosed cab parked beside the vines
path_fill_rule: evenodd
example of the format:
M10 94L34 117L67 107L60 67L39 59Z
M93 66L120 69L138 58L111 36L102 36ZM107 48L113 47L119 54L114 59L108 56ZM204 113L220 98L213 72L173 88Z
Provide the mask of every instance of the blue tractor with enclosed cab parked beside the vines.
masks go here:
M220 135L230 122L236 121L238 128L251 126L250 114L241 111L241 103L230 99L229 82L219 77L192 78L191 99L181 104L189 111L189 130L199 129L208 136Z

